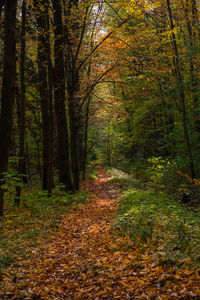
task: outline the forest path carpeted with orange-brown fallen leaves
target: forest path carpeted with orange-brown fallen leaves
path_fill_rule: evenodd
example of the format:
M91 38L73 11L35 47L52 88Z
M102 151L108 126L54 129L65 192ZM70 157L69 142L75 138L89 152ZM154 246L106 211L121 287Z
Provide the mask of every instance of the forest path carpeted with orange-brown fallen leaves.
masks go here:
M200 299L198 271L158 266L148 245L113 236L120 192L97 169L99 178L81 187L90 201L67 214L30 259L6 269L0 299Z

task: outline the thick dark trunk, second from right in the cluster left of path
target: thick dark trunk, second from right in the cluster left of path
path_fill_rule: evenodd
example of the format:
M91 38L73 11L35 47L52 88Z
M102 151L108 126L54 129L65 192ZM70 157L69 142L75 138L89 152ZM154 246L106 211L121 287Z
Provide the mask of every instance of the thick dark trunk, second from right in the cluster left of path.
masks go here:
M60 0L52 0L54 9L55 68L54 98L57 125L58 173L59 182L66 190L72 190L68 123L65 109L65 72L62 9Z

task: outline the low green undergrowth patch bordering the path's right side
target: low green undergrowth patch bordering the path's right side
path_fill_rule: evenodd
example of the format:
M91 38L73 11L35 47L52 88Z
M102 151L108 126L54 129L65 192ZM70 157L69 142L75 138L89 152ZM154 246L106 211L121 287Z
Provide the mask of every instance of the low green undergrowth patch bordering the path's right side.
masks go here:
M132 246L148 244L157 262L200 263L199 216L163 193L129 189L119 199L113 231Z

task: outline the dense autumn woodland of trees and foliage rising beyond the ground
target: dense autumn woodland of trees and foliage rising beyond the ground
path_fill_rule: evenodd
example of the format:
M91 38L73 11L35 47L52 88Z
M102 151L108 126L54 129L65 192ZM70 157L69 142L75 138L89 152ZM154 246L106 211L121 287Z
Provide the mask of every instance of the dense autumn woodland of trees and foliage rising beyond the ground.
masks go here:
M38 178L78 191L91 162L198 186L196 0L1 0L0 17L1 215Z

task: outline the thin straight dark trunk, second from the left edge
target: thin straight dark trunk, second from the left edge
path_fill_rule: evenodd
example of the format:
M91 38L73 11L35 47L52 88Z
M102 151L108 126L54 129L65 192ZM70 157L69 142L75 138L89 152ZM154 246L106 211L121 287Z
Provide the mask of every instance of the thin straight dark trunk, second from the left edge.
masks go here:
M26 174L25 159L25 53L26 53L26 0L22 4L22 29L21 29L21 62L20 62L20 103L19 103L19 163L18 173ZM23 176L23 182L27 183L27 176ZM21 196L21 187L16 187L15 204L19 206Z

